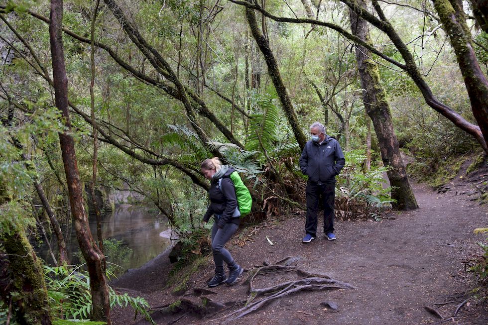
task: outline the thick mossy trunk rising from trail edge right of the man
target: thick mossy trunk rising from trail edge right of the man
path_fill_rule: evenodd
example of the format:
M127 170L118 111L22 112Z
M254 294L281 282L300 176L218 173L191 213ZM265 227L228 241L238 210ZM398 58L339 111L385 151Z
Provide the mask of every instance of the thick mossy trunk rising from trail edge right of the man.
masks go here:
M364 0L357 1L361 6L366 7ZM353 10L350 10L350 18L353 34L370 43L366 20L358 16ZM366 113L373 122L383 164L385 167L391 167L387 174L392 187L391 198L396 200L392 206L398 210L417 209L417 201L408 182L405 166L400 156L398 140L393 130L386 93L380 84L378 67L370 57L371 54L366 47L356 45L356 60L361 77Z

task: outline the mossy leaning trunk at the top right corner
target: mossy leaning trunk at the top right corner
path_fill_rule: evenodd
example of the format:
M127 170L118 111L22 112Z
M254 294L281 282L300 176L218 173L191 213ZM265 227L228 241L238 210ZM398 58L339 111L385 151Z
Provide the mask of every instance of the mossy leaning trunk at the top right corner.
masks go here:
M444 29L449 35L454 52L456 52L459 68L470 97L473 115L486 140L488 139L488 80L476 58L463 3L459 0L433 1Z

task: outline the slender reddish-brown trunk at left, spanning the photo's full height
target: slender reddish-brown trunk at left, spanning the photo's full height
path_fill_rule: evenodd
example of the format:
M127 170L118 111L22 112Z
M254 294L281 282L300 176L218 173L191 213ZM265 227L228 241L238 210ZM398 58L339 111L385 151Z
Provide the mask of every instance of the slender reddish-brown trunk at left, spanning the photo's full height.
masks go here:
M64 170L68 184L71 213L75 223L76 237L83 257L87 262L90 275L90 291L92 294L92 319L110 322L110 301L107 280L103 271L104 256L95 243L88 225L87 213L83 200L83 191L78 172L75 154L75 144L70 135L71 123L68 111L68 79L64 63L62 40L63 1L51 0L51 23L49 24L49 38L53 67L54 94L56 107L61 111L67 132L59 133L61 153L63 155Z

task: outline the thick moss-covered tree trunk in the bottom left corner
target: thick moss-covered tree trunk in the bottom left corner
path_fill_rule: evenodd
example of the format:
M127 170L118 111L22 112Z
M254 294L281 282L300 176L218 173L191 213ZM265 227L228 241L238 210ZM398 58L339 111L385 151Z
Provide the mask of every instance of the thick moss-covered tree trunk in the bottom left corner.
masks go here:
M10 198L0 178L0 214ZM50 325L42 263L22 229L0 231L0 296L21 325Z

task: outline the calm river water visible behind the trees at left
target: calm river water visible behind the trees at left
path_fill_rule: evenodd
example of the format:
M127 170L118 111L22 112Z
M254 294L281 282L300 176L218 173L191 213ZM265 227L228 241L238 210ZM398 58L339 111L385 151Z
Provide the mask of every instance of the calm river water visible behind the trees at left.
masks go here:
M117 205L111 215L103 217L102 232L104 238L115 238L121 240L124 245L132 250L127 255L127 261L119 265L122 267L118 274L122 274L127 269L134 269L155 258L169 246L170 230L168 229L167 219L157 216L157 211L147 207L133 205ZM90 217L90 228L92 235L97 237L97 221L95 217ZM78 251L78 241L74 228L66 240L70 260L76 261L75 253ZM57 248L56 239L51 239L51 247ZM52 263L47 245L36 249L39 255L48 263ZM56 254L56 252L54 252ZM168 260L169 263L169 260Z

